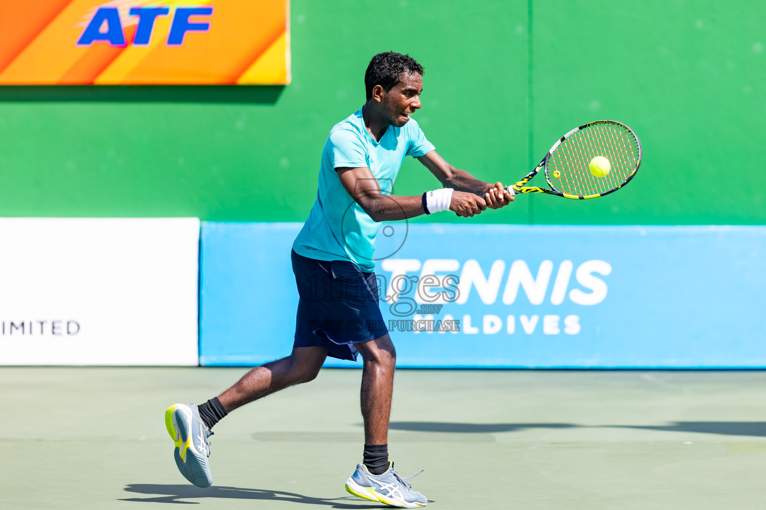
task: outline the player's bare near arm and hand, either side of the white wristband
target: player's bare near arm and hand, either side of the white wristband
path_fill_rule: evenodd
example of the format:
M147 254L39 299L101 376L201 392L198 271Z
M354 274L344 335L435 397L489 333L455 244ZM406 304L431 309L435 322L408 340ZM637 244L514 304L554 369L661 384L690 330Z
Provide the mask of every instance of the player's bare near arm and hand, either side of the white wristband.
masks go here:
M336 172L345 190L376 222L414 218L426 213L422 195L385 195L368 167L336 168ZM475 193L452 192L450 211L467 218L485 209L486 203Z

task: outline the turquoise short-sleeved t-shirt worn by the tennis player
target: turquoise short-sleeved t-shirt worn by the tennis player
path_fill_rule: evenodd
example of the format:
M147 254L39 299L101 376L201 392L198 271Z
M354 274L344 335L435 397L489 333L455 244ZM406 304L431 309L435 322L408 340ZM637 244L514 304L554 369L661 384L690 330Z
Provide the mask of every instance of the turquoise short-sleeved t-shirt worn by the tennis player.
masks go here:
M352 199L335 169L368 167L382 192L390 194L404 156L417 158L433 150L413 119L401 128L389 125L379 142L365 129L362 109L332 126L322 151L316 202L293 250L304 257L350 261L362 271L375 271L375 235L381 224Z

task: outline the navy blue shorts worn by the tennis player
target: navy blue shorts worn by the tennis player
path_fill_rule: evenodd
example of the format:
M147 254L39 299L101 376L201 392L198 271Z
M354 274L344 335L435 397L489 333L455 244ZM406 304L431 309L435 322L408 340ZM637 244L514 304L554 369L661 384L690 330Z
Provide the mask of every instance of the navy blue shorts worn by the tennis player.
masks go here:
M355 343L388 333L375 273L347 261L290 255L300 294L293 347L324 347L333 358L355 361Z

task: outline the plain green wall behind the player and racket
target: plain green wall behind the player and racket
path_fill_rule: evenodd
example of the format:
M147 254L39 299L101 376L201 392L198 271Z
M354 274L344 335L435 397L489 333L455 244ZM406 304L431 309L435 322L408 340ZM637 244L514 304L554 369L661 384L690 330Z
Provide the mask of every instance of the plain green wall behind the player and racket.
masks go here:
M372 54L397 50L426 67L430 141L486 180L591 120L641 138L619 193L470 221L766 223L766 4L713 3L293 0L286 87L0 89L0 216L303 221L329 128L362 105ZM394 191L436 185L408 160Z

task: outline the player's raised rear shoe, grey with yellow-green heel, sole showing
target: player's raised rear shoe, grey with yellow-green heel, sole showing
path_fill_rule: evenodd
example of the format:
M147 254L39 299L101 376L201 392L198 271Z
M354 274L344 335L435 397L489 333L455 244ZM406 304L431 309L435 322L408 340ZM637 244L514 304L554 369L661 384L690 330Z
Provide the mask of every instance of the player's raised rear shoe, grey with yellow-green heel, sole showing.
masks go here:
M175 442L173 456L178 471L195 486L205 489L213 483L207 456L202 456L191 441L191 410L185 404L173 404L165 410L165 427Z

